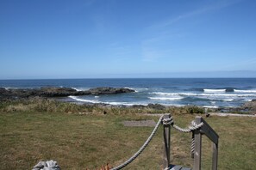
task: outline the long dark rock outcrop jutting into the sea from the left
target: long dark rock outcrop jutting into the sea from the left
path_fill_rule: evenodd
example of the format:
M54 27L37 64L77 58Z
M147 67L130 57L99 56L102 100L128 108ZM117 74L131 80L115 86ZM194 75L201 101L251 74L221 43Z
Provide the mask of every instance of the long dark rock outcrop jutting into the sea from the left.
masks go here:
M129 88L91 88L85 91L77 91L73 88L24 88L24 89L5 89L0 88L1 99L20 99L28 97L67 97L69 95L101 95L101 94L123 94L131 93L134 90Z

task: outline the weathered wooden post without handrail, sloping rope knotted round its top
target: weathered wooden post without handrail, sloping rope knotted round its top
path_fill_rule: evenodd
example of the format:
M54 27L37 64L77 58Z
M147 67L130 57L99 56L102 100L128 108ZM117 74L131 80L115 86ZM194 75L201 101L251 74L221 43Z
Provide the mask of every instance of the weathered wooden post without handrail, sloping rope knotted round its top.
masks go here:
M164 118L171 118L171 114L165 114ZM171 149L171 125L163 124L163 137L164 137L164 162L163 168L169 167L170 165L170 149Z

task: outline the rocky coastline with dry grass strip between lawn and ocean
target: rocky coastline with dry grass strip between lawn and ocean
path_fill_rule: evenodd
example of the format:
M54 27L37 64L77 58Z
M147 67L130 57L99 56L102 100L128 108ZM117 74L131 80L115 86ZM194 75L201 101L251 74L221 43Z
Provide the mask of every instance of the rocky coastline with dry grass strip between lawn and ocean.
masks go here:
M188 105L188 106L165 106L158 103L148 103L147 105L111 105L108 103L97 102L84 102L78 100L67 100L66 97L70 96L79 96L79 95L116 95L116 94L128 94L134 93L134 89L130 88L91 88L88 90L76 90L74 88L17 88L17 89L6 89L0 88L0 100L2 101L2 110L6 110L8 106L16 105L36 105L37 103L47 103L46 106L49 107L58 107L58 105L72 106L72 109L68 112L84 112L84 108L94 108L95 110L101 110L100 112L106 112L105 110L111 109L122 109L122 112L154 112L154 113L163 113L163 112L175 112L175 113L208 113L208 112L219 112L222 114L225 113L235 113L235 114L255 114L256 112L256 100L247 101L245 104L237 107L217 107L217 108L208 108L203 106ZM54 106L53 106L54 105ZM75 105L75 106L73 106ZM75 109L74 109L75 108ZM33 108L30 108L33 110ZM128 111L128 110L133 111ZM7 109L8 110L8 109ZM14 109L16 110L16 109ZM24 110L28 110L24 109ZM56 108L55 108L56 110ZM58 109L57 109L58 110ZM126 110L126 111L124 111ZM8 111L10 112L11 109ZM109 112L109 111L108 111ZM119 111L120 112L120 111Z

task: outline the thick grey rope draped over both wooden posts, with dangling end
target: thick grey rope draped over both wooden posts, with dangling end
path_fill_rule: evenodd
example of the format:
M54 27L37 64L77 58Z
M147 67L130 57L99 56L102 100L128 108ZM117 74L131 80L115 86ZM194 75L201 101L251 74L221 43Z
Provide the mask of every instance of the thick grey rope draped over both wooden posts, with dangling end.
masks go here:
M147 138L147 141L140 147L140 149L132 157L130 157L127 161L123 162L122 164L120 164L117 167L113 167L111 170L122 169L123 167L128 166L128 164L130 164L132 161L134 161L142 153L142 151L144 149L146 149L147 145L150 143L150 141L154 137L154 135L155 135L156 131L158 130L159 125L161 123L164 124L165 126L172 125L172 127L174 129L176 129L178 131L181 131L181 132L185 132L185 133L196 131L196 130L200 129L203 126L203 122L201 124L196 124L194 121L192 121L189 128L187 128L187 129L180 128L180 127L178 127L178 125L174 124L174 121L173 121L172 117L171 118L164 118L164 115L162 115L159 118L158 123L155 125L152 133ZM195 150L195 142L194 142L193 138L192 138L192 144L191 144L191 151L192 150Z

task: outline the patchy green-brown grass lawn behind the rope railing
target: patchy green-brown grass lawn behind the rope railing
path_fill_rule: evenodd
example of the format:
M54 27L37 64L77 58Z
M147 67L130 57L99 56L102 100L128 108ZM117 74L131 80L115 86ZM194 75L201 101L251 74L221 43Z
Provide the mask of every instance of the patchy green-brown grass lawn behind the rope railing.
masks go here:
M196 115L173 115L187 127ZM62 169L112 167L140 148L152 127L124 127L123 120L155 119L135 114L0 113L0 169L32 169L38 161L58 161ZM218 133L219 169L256 167L256 118L205 118ZM192 167L190 134L172 130L172 163ZM147 149L124 169L160 169L162 128ZM203 169L211 169L211 144L203 137Z

